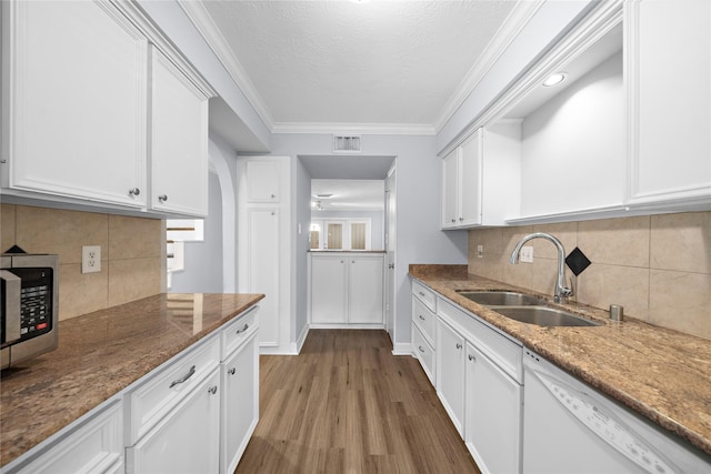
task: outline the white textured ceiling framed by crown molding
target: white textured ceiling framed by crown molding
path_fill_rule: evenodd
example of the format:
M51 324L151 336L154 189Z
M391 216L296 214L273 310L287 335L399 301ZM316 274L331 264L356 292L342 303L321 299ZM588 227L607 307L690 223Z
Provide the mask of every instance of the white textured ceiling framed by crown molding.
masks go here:
M517 3L200 4L211 23L203 21L203 34L210 30L227 46L243 74L240 85L272 129L387 124L433 130L457 107L465 78Z

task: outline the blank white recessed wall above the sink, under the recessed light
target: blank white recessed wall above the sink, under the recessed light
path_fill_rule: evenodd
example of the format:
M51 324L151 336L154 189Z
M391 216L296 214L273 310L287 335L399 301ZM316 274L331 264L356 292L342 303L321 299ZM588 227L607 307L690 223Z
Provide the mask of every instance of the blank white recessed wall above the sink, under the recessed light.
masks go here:
M622 204L624 103L620 52L523 121L521 215Z

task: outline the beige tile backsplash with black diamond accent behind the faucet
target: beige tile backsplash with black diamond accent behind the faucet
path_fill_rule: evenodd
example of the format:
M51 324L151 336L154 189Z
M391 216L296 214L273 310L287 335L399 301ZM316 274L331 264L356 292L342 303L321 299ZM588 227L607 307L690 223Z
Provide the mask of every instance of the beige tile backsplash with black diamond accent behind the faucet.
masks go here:
M533 263L508 263L518 241L548 232L565 254L578 246L592 264L574 280L580 303L711 339L711 212L659 214L561 224L469 231L469 272L552 294L558 273L555 246L533 246ZM483 245L482 256L477 248ZM567 268L565 281L572 272Z

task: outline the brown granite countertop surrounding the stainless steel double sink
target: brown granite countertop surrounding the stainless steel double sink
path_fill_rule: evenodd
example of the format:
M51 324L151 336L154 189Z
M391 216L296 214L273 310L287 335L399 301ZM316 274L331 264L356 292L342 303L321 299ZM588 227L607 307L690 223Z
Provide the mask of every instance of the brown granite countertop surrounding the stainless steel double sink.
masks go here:
M475 313L551 363L633 412L711 454L711 341L569 303L467 273L467 265L410 265L411 276ZM520 323L468 300L457 290L515 290L602 323L543 327Z

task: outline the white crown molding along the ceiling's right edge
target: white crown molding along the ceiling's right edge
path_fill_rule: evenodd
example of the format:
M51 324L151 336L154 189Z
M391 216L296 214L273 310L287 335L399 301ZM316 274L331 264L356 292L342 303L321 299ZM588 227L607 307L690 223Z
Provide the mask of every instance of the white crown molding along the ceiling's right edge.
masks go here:
M481 57L474 65L469 70L467 75L459 83L457 90L450 97L447 104L442 108L440 117L434 121L434 130L439 133L447 122L452 118L454 112L467 100L469 94L474 90L477 84L487 75L489 70L497 63L499 58L511 46L511 42L519 36L521 30L535 16L545 0L521 1L515 4L509 17L499 28L492 40L487 46Z

